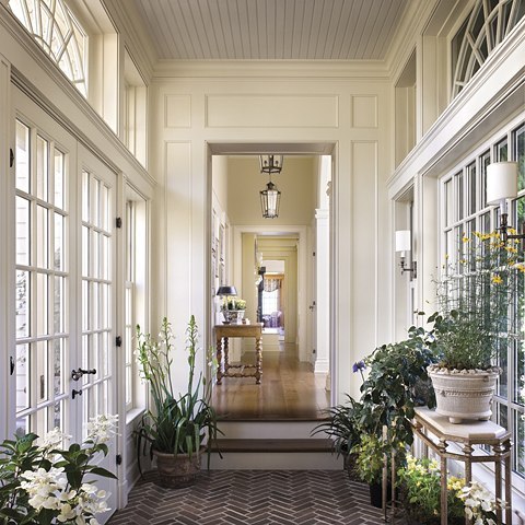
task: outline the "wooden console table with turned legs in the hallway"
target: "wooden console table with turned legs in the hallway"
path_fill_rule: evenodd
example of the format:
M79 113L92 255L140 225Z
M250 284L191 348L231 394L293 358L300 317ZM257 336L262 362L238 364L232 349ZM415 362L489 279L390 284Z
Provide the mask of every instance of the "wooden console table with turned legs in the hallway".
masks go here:
M230 364L228 355L230 337L255 337L255 364ZM262 323L215 325L215 339L217 384L220 385L223 377L255 377L255 383L260 385L260 376L262 375Z

